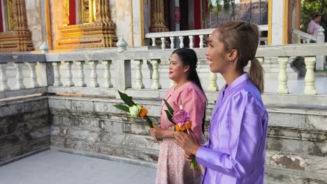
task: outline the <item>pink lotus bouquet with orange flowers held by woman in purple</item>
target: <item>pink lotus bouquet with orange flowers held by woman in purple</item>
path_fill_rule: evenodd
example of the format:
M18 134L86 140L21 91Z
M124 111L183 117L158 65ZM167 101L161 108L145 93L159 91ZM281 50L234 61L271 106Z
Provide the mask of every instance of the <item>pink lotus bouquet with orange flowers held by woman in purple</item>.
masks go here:
M177 112L174 112L174 109L169 105L169 103L163 99L165 102L165 105L167 107L167 110L165 110L167 114L168 120L175 124L174 131L182 131L187 132L192 127L192 121L191 116L189 116L189 113L184 111L182 100L180 100L180 109ZM197 167L196 160L194 156L191 156L191 169L195 169Z

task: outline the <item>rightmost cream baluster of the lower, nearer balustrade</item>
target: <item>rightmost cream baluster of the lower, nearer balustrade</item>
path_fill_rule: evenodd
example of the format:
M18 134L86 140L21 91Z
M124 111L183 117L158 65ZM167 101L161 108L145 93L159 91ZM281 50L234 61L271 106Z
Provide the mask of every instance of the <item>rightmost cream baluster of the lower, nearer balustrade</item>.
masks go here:
M314 63L316 63L315 56L305 56L305 68L307 72L305 73L305 91L306 95L315 95L316 87L314 86Z

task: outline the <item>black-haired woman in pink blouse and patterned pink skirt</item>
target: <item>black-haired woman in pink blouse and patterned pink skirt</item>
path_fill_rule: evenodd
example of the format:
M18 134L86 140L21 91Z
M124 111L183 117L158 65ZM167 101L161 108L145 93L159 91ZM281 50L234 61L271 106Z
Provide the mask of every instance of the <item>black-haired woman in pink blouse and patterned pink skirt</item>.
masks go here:
M203 142L203 121L207 99L196 72L198 59L193 49L176 49L170 56L169 78L176 84L168 89L164 99L177 110L182 100L184 110L191 116L192 130L199 142ZM157 184L200 183L201 169L190 169L189 160L184 159L184 150L174 143L174 124L171 123L161 102L161 122L150 130L151 135L161 138L157 167Z

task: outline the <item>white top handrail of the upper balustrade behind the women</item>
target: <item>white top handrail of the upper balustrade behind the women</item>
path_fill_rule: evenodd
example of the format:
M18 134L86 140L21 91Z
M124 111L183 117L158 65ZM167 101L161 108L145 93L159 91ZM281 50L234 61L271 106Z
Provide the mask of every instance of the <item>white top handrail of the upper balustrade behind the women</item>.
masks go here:
M268 31L268 25L259 25L260 31ZM197 36L210 35L215 29L195 29L187 31L168 31L160 33L146 33L145 38L162 38L170 36Z

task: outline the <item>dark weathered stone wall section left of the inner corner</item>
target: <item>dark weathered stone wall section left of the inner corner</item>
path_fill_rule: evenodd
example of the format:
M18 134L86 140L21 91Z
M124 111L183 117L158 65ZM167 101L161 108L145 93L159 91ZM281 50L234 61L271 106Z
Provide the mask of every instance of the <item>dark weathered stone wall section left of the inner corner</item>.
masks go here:
M50 146L46 97L0 102L0 164Z

